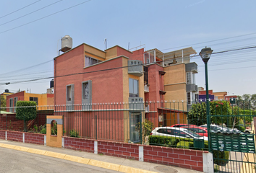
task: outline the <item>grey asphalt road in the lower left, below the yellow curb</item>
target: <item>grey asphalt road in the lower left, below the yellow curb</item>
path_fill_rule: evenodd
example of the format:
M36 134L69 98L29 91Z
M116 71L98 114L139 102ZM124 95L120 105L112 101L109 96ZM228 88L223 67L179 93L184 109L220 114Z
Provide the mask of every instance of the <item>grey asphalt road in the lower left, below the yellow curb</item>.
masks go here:
M116 172L64 159L0 148L0 172Z

